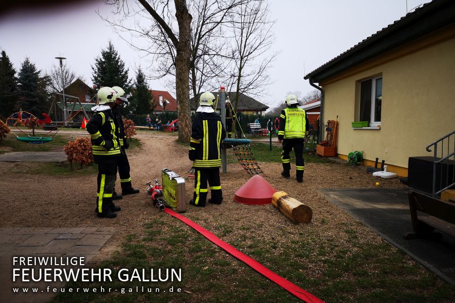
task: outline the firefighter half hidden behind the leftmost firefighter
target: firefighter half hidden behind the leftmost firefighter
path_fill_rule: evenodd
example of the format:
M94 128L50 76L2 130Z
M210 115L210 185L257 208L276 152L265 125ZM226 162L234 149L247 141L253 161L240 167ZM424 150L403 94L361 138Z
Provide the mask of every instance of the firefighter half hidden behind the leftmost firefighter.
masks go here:
M114 200L116 199L121 199L123 195L127 194L135 194L139 193L139 189L133 188L131 186L131 176L129 175L129 162L128 162L128 157L126 156L126 150L129 147L129 142L128 139L126 138L125 135L125 128L123 126L123 119L122 115L120 113L120 107L122 103L128 103L128 99L126 97L126 93L121 88L120 86L113 86L112 89L114 89L117 94L115 97L115 106L112 109L112 112L114 113L114 118L115 118L115 124L117 126L118 130L118 143L120 146L121 153L117 158L117 166L118 166L118 175L120 177L120 186L122 188L122 194L117 194L115 192L114 188L114 193L112 195L112 198Z

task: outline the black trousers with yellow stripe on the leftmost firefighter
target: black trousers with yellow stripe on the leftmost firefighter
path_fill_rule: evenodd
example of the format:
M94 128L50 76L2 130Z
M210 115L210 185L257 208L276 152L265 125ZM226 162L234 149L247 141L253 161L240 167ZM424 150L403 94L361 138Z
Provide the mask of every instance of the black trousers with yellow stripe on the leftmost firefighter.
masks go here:
M110 213L115 206L112 202L115 179L117 178L117 157L97 159L97 213Z

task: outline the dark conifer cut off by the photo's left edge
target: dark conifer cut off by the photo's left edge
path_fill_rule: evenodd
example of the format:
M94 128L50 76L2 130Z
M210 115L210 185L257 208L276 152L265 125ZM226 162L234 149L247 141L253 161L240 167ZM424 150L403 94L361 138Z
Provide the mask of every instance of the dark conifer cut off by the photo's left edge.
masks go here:
M0 58L0 115L9 117L16 109L16 70L5 51Z

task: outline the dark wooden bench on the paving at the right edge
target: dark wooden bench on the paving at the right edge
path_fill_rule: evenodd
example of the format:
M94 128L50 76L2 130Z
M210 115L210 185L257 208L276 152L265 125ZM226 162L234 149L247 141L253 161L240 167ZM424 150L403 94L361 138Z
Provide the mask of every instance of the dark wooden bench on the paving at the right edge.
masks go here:
M413 233L405 233L405 239L441 238L443 231L455 237L455 203L445 202L411 190L407 194L411 210ZM429 216L418 216L418 211Z

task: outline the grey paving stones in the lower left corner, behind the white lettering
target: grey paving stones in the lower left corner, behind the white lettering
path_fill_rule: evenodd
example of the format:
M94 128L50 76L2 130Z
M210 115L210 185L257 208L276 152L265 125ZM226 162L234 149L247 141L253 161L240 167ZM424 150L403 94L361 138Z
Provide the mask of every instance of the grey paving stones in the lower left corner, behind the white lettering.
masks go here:
M0 228L0 300L4 302L47 302L55 294L47 286L63 287L63 282L13 282L13 257L84 257L92 260L114 232L110 227L2 227ZM15 266L17 268L17 266ZM52 268L52 267L47 267ZM14 293L27 287L30 292ZM31 287L38 293L31 293Z

